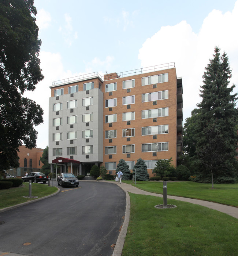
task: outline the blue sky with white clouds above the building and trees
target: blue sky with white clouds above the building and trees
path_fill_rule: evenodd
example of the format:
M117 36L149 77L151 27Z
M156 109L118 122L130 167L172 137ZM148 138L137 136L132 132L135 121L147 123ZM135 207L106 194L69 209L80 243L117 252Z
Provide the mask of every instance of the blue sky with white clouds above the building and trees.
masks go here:
M183 123L201 102L215 46L227 53L238 91L238 0L34 0L44 80L25 97L44 110L37 147L48 145L52 82L84 73L125 72L175 62L183 81Z

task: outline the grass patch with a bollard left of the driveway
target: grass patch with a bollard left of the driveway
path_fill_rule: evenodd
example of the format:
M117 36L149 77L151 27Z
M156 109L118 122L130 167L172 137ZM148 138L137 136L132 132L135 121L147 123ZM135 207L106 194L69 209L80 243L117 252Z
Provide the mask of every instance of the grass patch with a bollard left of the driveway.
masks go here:
M48 186L46 184L32 183L31 195L41 198L53 194L57 191L56 187ZM36 198L25 198L23 196L29 196L29 183L25 182L20 187L10 188L7 190L0 190L0 209L16 205L18 203L24 203L32 201Z

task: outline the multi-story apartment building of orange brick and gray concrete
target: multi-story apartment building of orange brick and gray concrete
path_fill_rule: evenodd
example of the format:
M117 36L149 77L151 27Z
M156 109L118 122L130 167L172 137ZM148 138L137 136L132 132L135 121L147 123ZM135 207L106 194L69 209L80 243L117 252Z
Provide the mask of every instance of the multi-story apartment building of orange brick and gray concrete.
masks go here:
M174 63L90 73L50 88L49 163L60 171L86 175L96 164L115 174L120 159L132 170L142 158L152 176L157 159L177 165L183 99Z

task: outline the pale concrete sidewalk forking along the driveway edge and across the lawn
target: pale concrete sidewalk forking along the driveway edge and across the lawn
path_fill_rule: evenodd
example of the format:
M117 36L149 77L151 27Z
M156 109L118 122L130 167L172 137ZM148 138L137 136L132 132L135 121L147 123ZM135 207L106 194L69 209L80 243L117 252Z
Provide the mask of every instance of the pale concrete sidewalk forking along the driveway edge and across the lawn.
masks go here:
M106 181L106 182L115 183L115 181ZM147 192L147 191L141 190L137 187L134 187L134 186L126 184L126 183L119 184L116 182L116 184L118 186L120 186L126 192L126 212L125 212L124 223L122 225L120 234L116 241L116 246L114 248L114 252L113 252L112 256L122 255L124 241L126 238L127 228L128 228L128 224L129 224L129 220L130 220L130 196L129 196L128 192L133 193L133 194L140 194L140 195L153 195L153 196L158 196L158 197L163 198L163 195L161 195L161 194ZM194 203L196 205L202 205L202 206L217 210L219 212L226 213L226 214L238 219L238 208L237 207L221 205L219 203L213 203L213 202L208 202L208 201L203 201L203 200L198 200L198 199L185 198L185 197L180 197L180 196L167 195L167 198L175 199L175 200L183 201L183 202Z

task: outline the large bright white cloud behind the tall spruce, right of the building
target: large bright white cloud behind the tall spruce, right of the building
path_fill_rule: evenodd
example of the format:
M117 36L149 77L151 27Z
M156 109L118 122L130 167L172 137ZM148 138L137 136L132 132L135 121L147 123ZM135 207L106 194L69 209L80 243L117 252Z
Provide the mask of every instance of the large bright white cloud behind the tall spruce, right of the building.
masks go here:
M139 50L141 66L175 62L177 76L183 78L183 119L190 116L201 101L199 89L202 75L215 46L225 51L233 69L231 83L238 86L238 1L232 12L213 10L204 19L199 33L194 33L186 21L161 27ZM237 92L237 89L236 91Z

